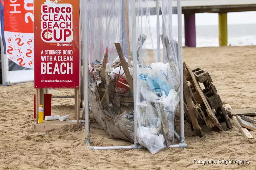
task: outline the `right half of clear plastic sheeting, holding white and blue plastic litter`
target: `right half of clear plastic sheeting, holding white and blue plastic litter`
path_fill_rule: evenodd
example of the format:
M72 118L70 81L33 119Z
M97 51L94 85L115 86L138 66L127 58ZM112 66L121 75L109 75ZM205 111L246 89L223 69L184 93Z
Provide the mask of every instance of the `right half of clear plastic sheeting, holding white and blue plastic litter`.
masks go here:
M140 50L139 63L144 67L137 71L137 138L140 145L153 154L173 143L174 117L180 102L178 45L172 39L172 1L156 0L155 3L158 3L156 7L159 6L162 15L156 16L157 22L151 23L153 16L150 16L147 6L152 1L137 1L137 34L147 35L145 43L147 47L151 43L153 49L153 54L143 46ZM144 9L143 12L141 9ZM158 17L162 21L160 30L157 28L160 23ZM153 37L157 37L157 40ZM154 47L155 43L157 49ZM163 49L159 48L159 43Z

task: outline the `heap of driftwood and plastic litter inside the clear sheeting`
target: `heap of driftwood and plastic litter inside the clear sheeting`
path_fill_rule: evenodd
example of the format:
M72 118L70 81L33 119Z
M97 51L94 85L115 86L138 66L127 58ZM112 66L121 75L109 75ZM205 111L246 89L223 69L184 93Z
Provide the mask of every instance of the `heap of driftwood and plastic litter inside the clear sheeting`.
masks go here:
M115 44L116 45L116 44ZM117 47L117 46L116 46ZM134 142L133 88L137 91L137 138L151 153L169 147L174 139L174 116L179 105L179 69L170 61L137 66L133 87L133 65L118 50L109 64L89 64L89 105L96 121L110 136Z

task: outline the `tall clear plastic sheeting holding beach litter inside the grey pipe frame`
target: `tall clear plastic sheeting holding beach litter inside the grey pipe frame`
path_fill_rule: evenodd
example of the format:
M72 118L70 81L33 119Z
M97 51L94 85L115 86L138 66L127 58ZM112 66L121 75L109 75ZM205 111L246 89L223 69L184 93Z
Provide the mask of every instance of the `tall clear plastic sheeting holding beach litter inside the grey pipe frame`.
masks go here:
M86 24L87 46L83 49L87 48L89 61L89 105L96 121L112 137L132 143L138 140L154 154L174 142L174 116L180 102L172 1L136 0L135 18L134 4L124 3L86 0L87 18L82 27ZM156 6L162 15L150 14ZM135 39L132 28L136 28Z

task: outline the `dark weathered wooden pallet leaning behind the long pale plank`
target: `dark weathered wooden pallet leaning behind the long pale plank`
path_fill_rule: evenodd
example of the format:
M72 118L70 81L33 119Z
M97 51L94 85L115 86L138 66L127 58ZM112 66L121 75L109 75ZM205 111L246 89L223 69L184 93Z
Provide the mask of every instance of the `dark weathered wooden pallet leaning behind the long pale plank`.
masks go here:
M219 122L226 122L228 128L232 128L228 114L223 107L223 103L219 95L217 94L216 87L212 84L212 78L208 72L201 70L200 68L192 70L197 81L204 85L204 95L212 109L216 111L216 117L219 117Z

